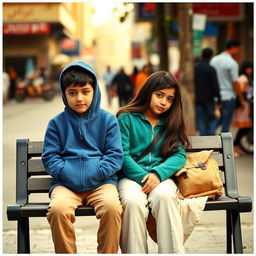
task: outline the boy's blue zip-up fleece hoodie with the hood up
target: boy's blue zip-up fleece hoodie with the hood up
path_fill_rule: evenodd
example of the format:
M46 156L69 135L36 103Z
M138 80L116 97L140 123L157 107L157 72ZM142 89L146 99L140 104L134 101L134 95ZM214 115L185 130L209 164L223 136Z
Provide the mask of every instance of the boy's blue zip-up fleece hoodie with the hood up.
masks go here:
M74 66L89 71L96 81L92 104L83 117L69 107L61 82L63 72ZM53 177L50 192L58 185L76 193L116 185L123 161L121 135L116 117L100 108L94 70L81 61L67 65L60 74L60 88L65 109L50 120L42 154L43 165Z

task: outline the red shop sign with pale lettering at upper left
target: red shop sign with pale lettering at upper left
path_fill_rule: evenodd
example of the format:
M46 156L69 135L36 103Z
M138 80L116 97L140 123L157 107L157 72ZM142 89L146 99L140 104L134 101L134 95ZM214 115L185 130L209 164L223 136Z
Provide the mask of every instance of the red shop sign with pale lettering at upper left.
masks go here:
M15 23L3 25L4 35L37 35L49 34L50 24L48 23Z

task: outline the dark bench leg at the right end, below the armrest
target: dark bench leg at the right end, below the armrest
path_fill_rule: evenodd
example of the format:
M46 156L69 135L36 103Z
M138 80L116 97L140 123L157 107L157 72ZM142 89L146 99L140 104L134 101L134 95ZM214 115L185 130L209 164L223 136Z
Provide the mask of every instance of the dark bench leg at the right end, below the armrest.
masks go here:
M237 210L232 210L231 214L232 214L234 253L243 253L240 213Z

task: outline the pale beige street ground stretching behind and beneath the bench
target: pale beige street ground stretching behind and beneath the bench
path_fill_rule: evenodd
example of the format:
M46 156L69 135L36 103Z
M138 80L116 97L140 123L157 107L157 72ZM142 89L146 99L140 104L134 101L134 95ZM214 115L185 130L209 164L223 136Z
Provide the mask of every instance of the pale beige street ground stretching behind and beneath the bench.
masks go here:
M106 95L104 88L102 89L102 107L107 108ZM117 100L108 110L115 113L117 110ZM63 103L60 95L57 95L53 101L46 102L42 98L28 98L23 103L10 101L3 107L3 252L15 253L16 252L16 227L17 223L8 221L6 217L6 207L8 204L15 203L15 183L16 183L16 139L29 138L31 140L43 140L45 129L50 118L63 110ZM232 130L233 131L233 130ZM236 159L236 166L238 172L238 187L239 194L248 195L253 198L253 157L242 156ZM241 214L242 228L243 228L243 242L246 246L245 252L253 253L253 212ZM92 247L82 248L83 253L96 253L96 231L98 220L95 217L79 217L75 223L78 230L78 243L84 243L87 239L84 235L84 230L88 232L88 236L92 237ZM33 230L33 238L31 236L33 245L40 244L40 237L45 235L46 247L38 249L34 245L34 253L53 253L53 245L50 236L49 224L46 218L32 218L30 228ZM225 251L225 212L213 211L204 212L195 233L198 236L191 235L188 240L187 247L190 248L191 253L198 253L197 247L204 244L201 253L221 253ZM214 235L216 231L217 235ZM223 238L218 237L220 232ZM221 233L222 232L222 233ZM224 232L224 233L223 233ZM205 236L209 234L209 236ZM47 236L47 237L46 237ZM216 249L216 244L211 240L221 240L222 247ZM35 239L37 237L37 239ZM33 240L35 239L35 240ZM197 240L200 239L200 240ZM80 241L80 242L79 242ZM195 245L201 241L200 245ZM88 241L87 241L88 242ZM207 245L208 243L208 245ZM152 244L152 250L155 250L155 245ZM208 249L207 246L209 247ZM39 247L38 247L39 248ZM48 249L47 249L48 248ZM211 249L212 248L212 249ZM81 251L81 250L80 250ZM79 251L79 252L80 252ZM188 250L189 251L189 250ZM219 252L220 251L220 252Z

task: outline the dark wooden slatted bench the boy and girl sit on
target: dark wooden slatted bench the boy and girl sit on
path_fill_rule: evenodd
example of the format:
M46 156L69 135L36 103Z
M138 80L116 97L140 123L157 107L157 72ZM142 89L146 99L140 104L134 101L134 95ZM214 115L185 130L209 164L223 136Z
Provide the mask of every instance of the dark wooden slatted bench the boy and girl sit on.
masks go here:
M250 212L252 201L250 197L240 196L237 189L237 175L233 154L231 133L218 136L192 136L192 148L189 152L213 149L213 157L222 171L225 196L217 200L208 200L205 211L226 211L227 253L243 253L240 212ZM47 202L30 202L30 195L48 193L51 176L41 162L42 141L17 140L16 155L16 204L8 205L7 217L10 221L18 221L17 251L30 253L29 218L45 217ZM81 206L76 210L76 216L95 215L94 209ZM233 243L232 243L233 240Z

